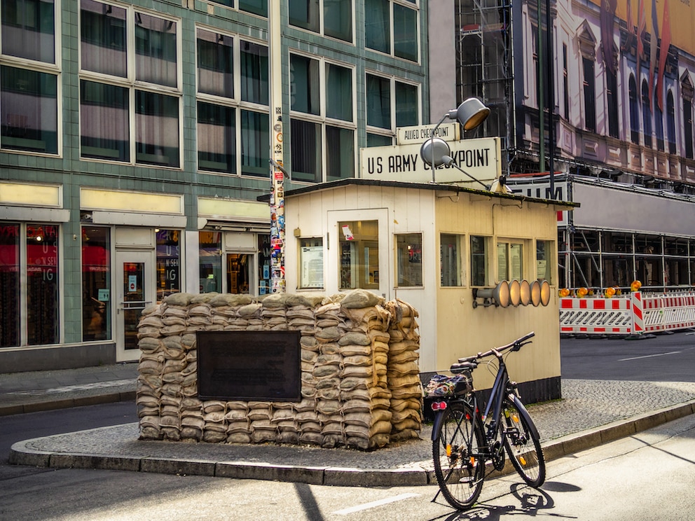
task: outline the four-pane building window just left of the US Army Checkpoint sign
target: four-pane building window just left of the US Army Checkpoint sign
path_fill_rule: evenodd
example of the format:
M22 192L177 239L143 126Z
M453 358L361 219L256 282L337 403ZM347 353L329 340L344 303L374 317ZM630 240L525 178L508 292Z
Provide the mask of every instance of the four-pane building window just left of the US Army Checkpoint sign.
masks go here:
M292 179L320 183L355 176L352 69L293 54L290 77Z

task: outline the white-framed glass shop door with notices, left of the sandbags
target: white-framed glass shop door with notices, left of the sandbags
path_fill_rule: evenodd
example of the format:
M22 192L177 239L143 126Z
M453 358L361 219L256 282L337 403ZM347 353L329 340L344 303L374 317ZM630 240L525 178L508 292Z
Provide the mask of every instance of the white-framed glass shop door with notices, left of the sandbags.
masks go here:
M152 251L117 251L116 360L139 359L137 324L142 310L154 301Z

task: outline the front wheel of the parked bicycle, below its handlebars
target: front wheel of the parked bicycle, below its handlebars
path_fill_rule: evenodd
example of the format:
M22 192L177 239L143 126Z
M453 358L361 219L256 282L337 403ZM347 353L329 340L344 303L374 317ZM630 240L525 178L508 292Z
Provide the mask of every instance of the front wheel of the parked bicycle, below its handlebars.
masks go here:
M520 411L523 410L523 411ZM540 487L545 481L545 458L535 428L530 425L530 417L521 402L505 398L504 446L516 471L532 487Z

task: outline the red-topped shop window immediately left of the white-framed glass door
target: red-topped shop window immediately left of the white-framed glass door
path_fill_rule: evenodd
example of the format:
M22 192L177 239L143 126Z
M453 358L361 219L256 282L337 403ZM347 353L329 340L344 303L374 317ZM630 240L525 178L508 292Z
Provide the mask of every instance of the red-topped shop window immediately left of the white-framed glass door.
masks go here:
M82 228L82 340L111 338L111 234Z

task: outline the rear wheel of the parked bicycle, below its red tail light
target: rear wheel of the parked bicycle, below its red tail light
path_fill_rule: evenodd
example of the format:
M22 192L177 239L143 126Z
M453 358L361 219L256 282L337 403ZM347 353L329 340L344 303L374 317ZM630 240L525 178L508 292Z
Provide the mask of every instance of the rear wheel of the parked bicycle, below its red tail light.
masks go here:
M483 488L483 425L467 403L449 403L432 442L434 475L446 501L458 510L471 508Z

